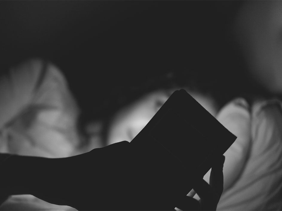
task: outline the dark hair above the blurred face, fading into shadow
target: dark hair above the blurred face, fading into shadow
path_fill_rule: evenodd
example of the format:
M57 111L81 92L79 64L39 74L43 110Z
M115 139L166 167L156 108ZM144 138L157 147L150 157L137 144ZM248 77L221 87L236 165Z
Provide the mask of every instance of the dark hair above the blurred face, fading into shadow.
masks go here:
M158 89L186 88L214 98L219 107L235 97L251 100L254 95L267 96L266 91L248 75L237 55L235 58L237 61L220 58L201 62L177 62L173 67L164 69L162 74L151 74L147 80L131 86L115 87L103 108L107 108L108 115L111 116L120 108Z

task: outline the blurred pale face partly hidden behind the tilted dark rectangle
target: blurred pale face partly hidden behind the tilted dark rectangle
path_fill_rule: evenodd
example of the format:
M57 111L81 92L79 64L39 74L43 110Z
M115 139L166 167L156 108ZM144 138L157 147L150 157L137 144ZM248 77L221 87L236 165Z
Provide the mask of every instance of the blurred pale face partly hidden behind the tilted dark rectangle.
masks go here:
M114 115L110 124L108 144L131 141L151 120L174 90L158 90L140 98ZM216 115L214 100L201 94L189 92L207 111Z

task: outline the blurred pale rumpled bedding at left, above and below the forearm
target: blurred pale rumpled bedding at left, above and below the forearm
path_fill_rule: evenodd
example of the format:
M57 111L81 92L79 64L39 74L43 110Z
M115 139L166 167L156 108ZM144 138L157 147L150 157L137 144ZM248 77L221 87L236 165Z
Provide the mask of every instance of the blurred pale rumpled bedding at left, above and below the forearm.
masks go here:
M77 153L79 109L65 77L53 64L34 59L11 68L0 78L0 108L1 153L48 158ZM0 210L72 209L31 195L12 196L0 207Z

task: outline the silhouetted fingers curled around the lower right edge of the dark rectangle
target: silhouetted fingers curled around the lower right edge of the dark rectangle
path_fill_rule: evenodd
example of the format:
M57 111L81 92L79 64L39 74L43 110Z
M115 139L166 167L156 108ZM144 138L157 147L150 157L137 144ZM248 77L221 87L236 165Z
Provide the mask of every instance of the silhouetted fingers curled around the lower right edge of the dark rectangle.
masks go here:
M216 210L223 192L222 169L224 160L225 157L222 156L212 167L210 185L203 179L197 181L193 190L180 200L175 210ZM199 201L193 198L195 193L199 195Z

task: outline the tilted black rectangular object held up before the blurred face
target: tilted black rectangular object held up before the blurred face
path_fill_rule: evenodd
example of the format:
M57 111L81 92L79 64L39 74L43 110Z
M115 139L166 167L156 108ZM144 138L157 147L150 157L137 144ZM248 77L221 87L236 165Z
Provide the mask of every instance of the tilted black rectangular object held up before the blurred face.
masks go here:
M168 98L130 144L141 152L139 165L150 163L153 166L154 188L175 191L176 194L170 198L163 196L164 200L171 201L171 197L177 200L180 195L186 196L195 179L203 178L214 160L223 155L236 138L181 89ZM168 204L160 203L163 207L151 209L167 209L165 206Z

